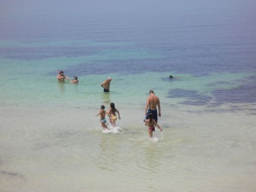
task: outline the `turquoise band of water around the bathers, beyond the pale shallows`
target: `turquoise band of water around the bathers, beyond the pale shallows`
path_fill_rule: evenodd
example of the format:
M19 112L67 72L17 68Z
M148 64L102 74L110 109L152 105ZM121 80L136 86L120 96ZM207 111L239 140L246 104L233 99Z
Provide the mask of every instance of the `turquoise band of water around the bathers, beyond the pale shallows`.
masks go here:
M93 43L93 42L50 42L50 43L15 43L11 41L3 41L1 43L2 49L59 49L59 46L65 47L69 45L82 46L81 49L89 49L85 47L98 47L104 49L105 46L129 47L134 46L134 43ZM7 48L6 48L7 47ZM57 48L56 48L57 47ZM191 99L197 99L198 96L206 98L203 104L215 103L221 105L218 97L221 93L214 94L214 91L228 91L237 90L236 97L238 103L254 102L254 73L251 71L237 71L237 72L214 72L209 71L207 74L182 74L176 73L175 70L162 71L165 66L162 63L155 63L152 65L152 70L146 64L140 65L140 61L147 61L153 59L160 61L165 58L161 54L151 54L149 50L138 49L131 50L130 47L125 50L99 50L92 55L78 56L78 57L53 57L47 55L46 58L33 59L27 57L29 52L22 52L15 54L17 58L2 58L1 59L1 77L5 81L1 82L3 93L1 94L1 101L5 103L11 102L25 102L25 103L47 103L58 102L59 98L65 102L78 102L79 99L89 99L90 103L101 102L101 97L94 97L94 95L101 95L102 90L99 86L101 82L109 76L113 77L111 83L111 95L117 95L118 101L126 102L127 98L133 96L136 99L144 96L148 90L155 90L164 99L168 98L183 98L187 99L188 95L183 95L186 91L194 91ZM13 54L13 53L11 53ZM34 52L42 57L46 53ZM38 57L35 55L34 57ZM135 61L136 65L129 65L129 61ZM95 63L94 63L95 62ZM82 64L81 64L82 63ZM162 66L163 65L163 66ZM145 70L141 68L145 67ZM67 77L73 78L77 75L79 77L79 85L69 85L66 83L57 83L56 76L59 70L65 70ZM159 69L159 71L157 71ZM214 68L213 68L214 69ZM169 75L173 74L174 78L170 79ZM8 83L6 83L8 82ZM173 91L175 92L174 95ZM185 91L185 92L184 92ZM221 91L220 91L221 92ZM239 93L240 92L240 93ZM242 94L241 94L242 92ZM134 94L136 93L136 94ZM191 94L191 93L190 93ZM197 95L195 95L197 94ZM243 96L247 96L246 98ZM97 99L98 98L98 99ZM123 98L123 99L121 99ZM233 99L226 97L223 102L233 102ZM193 103L190 103L193 105ZM202 104L201 104L202 105Z

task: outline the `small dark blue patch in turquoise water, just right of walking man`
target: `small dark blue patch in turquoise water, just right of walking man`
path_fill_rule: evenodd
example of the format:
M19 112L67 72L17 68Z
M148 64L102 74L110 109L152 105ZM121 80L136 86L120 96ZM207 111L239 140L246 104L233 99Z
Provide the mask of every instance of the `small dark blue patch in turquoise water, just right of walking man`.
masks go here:
M186 101L179 102L184 105L207 105L213 98L199 94L198 91L186 89L172 89L169 91L167 98L185 98Z

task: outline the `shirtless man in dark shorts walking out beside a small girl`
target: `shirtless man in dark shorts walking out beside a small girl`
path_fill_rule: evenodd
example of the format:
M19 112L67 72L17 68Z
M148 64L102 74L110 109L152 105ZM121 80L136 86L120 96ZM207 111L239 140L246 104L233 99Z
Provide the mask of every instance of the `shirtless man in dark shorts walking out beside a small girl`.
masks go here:
M150 90L149 91L149 97L147 98L147 104L146 104L146 109L145 109L145 115L146 119L149 119L148 113L152 113L153 119L155 119L155 122L157 123L157 107L159 110L158 116L161 117L161 106L160 106L160 101L157 96L155 96L154 91ZM149 109L149 110L147 110Z

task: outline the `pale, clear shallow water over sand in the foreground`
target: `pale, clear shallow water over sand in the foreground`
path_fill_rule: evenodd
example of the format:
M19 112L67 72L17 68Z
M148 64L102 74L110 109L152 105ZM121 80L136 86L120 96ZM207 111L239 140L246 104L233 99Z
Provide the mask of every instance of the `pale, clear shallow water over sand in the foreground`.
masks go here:
M142 107L121 111L118 133L102 133L85 107L3 107L2 189L254 191L255 115L230 107L163 107L158 139L138 118Z

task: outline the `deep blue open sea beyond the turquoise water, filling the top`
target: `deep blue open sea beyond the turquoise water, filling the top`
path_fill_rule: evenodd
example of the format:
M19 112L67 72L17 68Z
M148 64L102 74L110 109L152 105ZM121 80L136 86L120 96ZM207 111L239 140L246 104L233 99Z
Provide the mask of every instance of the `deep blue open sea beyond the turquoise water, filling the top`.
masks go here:
M83 11L78 14L75 10L76 14L68 14L68 17L63 11L58 13L60 17L54 17L55 11L51 15L47 9L46 14L39 14L39 17L34 12L23 11L26 17L23 14L23 17L12 17L11 22L6 17L8 14L3 14L5 19L1 19L0 36L2 39L22 39L26 43L72 41L77 38L99 42L136 42L137 49L166 55L166 61L157 62L161 66L158 70L169 65L169 69L181 74L255 71L254 22L247 22L247 19L238 22L239 11L230 13L225 10L216 14L220 13L218 6L211 7L211 13L206 14L205 9L198 9L201 4L193 3L189 11L177 9L175 13L158 9L138 11L137 7L137 11L109 11L111 13L96 10L95 13ZM246 14L247 18L251 18L250 11ZM90 54L90 51L93 54L94 48L63 45L35 47L34 50L26 47L6 49L0 50L0 54L7 58L45 59L76 57Z

